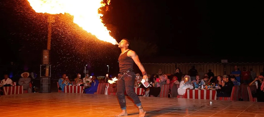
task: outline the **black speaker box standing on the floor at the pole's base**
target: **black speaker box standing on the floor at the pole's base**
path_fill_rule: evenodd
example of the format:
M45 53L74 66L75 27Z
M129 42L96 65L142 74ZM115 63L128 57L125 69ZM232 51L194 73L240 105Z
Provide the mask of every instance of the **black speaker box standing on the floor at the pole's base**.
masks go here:
M50 77L40 78L40 91L39 93L51 93L50 89Z

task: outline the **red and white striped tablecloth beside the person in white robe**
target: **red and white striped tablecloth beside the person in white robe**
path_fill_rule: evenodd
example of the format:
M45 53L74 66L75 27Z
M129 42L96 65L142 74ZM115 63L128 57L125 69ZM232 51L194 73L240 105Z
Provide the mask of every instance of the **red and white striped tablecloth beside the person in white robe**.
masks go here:
M216 90L186 90L185 98L216 100L216 94Z

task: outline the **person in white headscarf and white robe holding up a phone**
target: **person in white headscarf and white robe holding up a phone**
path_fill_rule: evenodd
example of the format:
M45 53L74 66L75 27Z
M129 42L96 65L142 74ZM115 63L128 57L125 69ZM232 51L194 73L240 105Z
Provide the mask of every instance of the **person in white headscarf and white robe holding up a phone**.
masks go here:
M184 95L186 90L193 89L191 77L189 75L185 75L184 79L180 82L180 86L178 88L178 94Z

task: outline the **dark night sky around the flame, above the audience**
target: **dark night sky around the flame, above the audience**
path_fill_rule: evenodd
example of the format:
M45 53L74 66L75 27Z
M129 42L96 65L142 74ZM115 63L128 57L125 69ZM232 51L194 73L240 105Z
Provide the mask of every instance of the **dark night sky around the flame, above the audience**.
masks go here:
M103 12L103 23L110 35L118 42L127 38L156 44L155 58L252 59L263 53L263 1L112 0L109 8ZM1 1L0 9L1 65L15 61L39 66L46 49L48 14L35 13L27 0ZM121 52L117 46L82 30L68 14L54 16L50 55L57 69L72 70L86 63L91 68L117 65Z

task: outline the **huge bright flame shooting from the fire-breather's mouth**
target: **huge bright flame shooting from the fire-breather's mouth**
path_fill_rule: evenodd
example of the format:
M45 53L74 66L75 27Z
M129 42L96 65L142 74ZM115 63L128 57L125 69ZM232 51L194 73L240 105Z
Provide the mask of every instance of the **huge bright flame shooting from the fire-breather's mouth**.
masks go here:
M73 22L98 39L118 44L116 39L109 35L110 31L102 23L98 9L105 6L103 0L28 0L30 6L37 13L64 14L69 13ZM108 4L110 0L108 0Z

